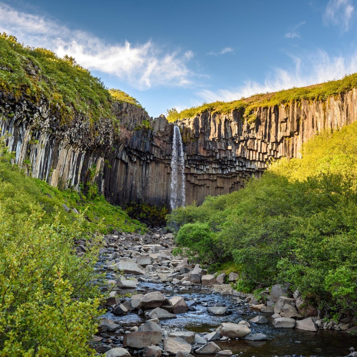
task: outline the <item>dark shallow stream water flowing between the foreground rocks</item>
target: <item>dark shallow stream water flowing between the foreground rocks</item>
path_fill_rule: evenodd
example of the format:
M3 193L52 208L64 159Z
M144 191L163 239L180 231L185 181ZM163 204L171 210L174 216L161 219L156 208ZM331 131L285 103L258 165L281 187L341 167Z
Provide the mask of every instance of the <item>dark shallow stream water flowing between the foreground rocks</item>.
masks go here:
M110 274L108 275L110 278ZM178 314L176 319L161 320L160 325L162 327L180 328L188 331L194 331L198 333L211 332L222 322L235 322L240 320L248 321L250 318L259 315L257 312L251 312L248 309L242 309L237 305L236 301L231 296L222 296L218 293L203 292L201 293L201 287L188 290L173 292L173 290L165 288L163 283L141 283L140 287L145 288L147 293L151 291L161 291L168 297L182 296L186 301L191 299L197 299L201 303L208 303L208 306L213 306L217 302L224 302L231 311L230 315L212 316L207 313L207 307L202 304L195 306L196 311L188 311L183 314ZM123 289L118 291L119 295L124 295L126 292L135 293L135 290ZM246 315L238 315L237 310L243 310ZM261 314L261 313L260 313ZM222 350L231 350L233 354L239 356L255 356L255 357L272 357L272 356L323 356L323 357L343 357L347 356L350 351L349 347L357 347L357 338L351 337L346 333L319 330L317 332L299 331L290 328L275 328L270 318L271 314L265 315L270 322L266 324L251 323L250 329L252 333L264 333L267 335L267 341L246 341L240 339L238 341L214 341ZM115 316L111 313L104 315L111 320L120 323L124 328L132 326L140 326L147 318L144 315L137 315L135 312L128 312L127 315ZM208 355L205 355L208 356Z

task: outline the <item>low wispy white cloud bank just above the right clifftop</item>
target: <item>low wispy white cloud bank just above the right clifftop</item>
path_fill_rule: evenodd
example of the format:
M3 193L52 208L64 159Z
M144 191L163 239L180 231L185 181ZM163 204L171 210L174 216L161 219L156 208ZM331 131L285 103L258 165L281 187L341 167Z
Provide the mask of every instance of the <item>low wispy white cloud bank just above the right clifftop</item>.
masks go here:
M216 91L202 90L197 93L203 100L232 101L257 93L274 92L340 79L345 74L357 72L357 52L350 57L330 57L327 52L318 50L308 57L293 57L294 71L276 68L268 74L265 81L246 81L240 87L219 89Z

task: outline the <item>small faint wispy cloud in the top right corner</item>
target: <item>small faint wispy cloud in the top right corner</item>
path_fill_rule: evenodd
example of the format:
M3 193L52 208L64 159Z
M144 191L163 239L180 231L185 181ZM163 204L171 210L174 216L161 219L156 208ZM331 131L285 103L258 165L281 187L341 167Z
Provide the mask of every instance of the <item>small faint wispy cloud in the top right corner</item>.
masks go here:
M344 31L350 27L352 15L355 12L352 0L330 0L322 16L326 25L341 26Z

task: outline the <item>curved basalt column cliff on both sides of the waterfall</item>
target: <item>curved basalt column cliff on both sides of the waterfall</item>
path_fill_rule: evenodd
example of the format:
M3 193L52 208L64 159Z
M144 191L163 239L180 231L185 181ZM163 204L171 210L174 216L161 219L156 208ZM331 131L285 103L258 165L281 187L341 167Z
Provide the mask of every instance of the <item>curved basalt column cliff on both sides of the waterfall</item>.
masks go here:
M8 131L16 163L51 185L96 182L112 203L145 201L169 207L174 125L164 116L115 103L116 117L90 124L76 116L60 124L45 100L0 93L0 127ZM259 177L267 161L299 157L303 142L323 129L357 117L357 90L326 101L301 101L258 108L249 125L238 110L202 114L178 123L185 152L186 204L240 188Z

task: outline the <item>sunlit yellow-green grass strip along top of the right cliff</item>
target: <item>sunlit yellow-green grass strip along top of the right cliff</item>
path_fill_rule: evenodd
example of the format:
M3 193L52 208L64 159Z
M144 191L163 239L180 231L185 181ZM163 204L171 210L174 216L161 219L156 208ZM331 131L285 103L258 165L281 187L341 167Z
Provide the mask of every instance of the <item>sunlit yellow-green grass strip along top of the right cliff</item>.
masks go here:
M191 107L178 112L175 108L167 110L167 120L170 122L192 118L205 111L212 114L228 114L232 110L241 111L245 114L248 122L253 122L255 116L253 111L258 107L269 107L280 104L290 104L301 100L326 100L330 96L346 93L347 91L357 88L357 74L351 74L337 81L327 81L307 87L293 87L278 92L256 94L248 98L233 100L231 102L216 101L213 103L203 103L197 107Z

